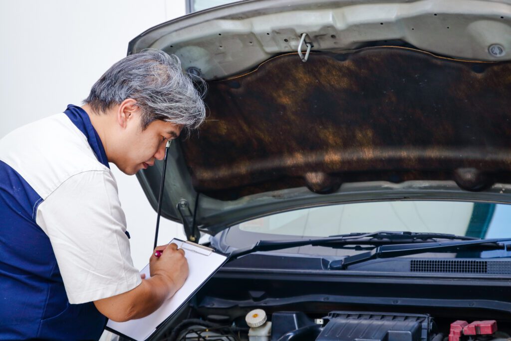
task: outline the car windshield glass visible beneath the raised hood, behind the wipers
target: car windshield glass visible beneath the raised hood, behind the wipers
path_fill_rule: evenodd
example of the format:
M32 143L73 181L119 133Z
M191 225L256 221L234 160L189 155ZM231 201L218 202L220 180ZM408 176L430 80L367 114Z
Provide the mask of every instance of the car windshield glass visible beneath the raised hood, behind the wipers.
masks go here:
M240 248L262 239L314 238L377 231L504 238L511 236L509 221L511 205L508 204L419 200L361 202L299 209L249 220L224 231L221 239L223 246ZM282 252L352 254L346 250L314 246L290 248Z

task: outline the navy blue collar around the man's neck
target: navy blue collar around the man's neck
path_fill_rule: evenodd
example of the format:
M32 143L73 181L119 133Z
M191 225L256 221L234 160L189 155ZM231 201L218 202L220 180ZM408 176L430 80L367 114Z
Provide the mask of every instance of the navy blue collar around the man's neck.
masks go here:
M87 142L89 143L90 148L94 150L94 153L98 158L98 161L101 162L106 167L110 168L110 166L108 165L108 159L106 158L103 143L99 138L98 132L96 131L96 129L94 129L92 123L90 123L90 119L89 116L87 115L87 112L85 112L85 110L83 110L79 106L69 104L64 113L65 115L67 115L69 120L71 120L71 122L73 122L73 124L76 125L76 127L80 129L81 132L83 132L83 134L87 138Z

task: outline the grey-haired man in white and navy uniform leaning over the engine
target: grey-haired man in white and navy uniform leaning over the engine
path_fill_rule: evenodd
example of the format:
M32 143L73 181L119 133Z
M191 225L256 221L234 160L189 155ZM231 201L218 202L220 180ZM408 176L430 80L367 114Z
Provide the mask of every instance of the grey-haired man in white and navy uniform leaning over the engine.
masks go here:
M108 163L135 174L162 160L204 121L201 94L176 57L146 50L84 103L0 140L0 339L98 339L105 316L146 316L188 276L170 244L141 279Z

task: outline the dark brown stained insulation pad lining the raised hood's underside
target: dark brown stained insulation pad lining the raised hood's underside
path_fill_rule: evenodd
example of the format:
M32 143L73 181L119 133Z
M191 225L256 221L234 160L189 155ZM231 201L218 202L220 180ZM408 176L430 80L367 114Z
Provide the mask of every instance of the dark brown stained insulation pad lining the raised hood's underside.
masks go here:
M346 181L511 181L509 62L392 47L306 63L288 54L208 85L207 122L181 147L194 187L215 198L328 193Z

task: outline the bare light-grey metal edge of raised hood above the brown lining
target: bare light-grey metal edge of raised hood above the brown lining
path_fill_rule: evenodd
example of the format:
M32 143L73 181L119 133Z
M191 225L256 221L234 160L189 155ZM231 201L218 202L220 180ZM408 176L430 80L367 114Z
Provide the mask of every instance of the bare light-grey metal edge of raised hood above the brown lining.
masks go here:
M297 50L307 33L313 50L352 50L370 41L403 40L461 59L508 60L511 3L476 0L251 0L219 6L153 27L130 42L177 55L206 80L250 70ZM332 37L334 36L334 37ZM498 43L503 55L489 54Z

